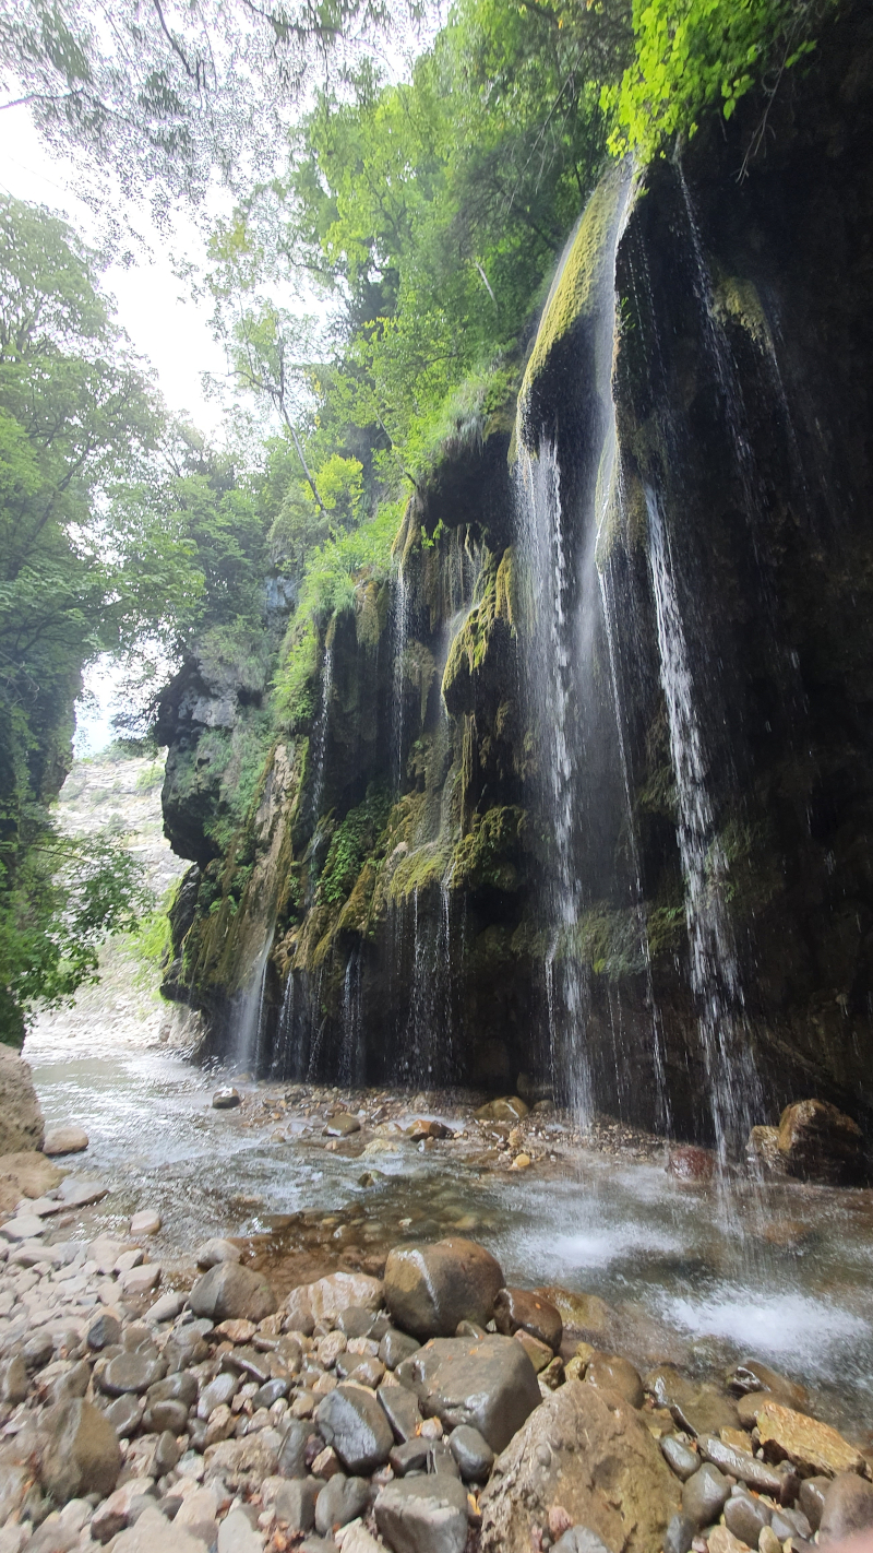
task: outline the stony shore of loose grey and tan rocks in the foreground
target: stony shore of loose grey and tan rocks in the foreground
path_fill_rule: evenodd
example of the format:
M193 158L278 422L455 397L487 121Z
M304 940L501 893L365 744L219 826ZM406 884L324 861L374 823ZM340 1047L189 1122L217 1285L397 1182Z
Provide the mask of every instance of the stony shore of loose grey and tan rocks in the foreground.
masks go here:
M5 1165L0 1553L800 1553L873 1525L873 1457L802 1385L640 1374L589 1340L602 1301L507 1289L470 1238L282 1295L250 1242L161 1267L149 1208L65 1238L104 1188Z

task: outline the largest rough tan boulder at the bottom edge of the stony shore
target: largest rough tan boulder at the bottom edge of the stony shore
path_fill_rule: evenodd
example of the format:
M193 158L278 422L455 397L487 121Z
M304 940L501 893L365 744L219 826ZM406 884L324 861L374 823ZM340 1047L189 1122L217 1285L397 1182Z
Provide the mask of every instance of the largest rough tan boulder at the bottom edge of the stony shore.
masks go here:
M679 1485L637 1412L581 1381L538 1407L482 1491L482 1553L530 1553L561 1505L608 1548L651 1553L679 1508Z

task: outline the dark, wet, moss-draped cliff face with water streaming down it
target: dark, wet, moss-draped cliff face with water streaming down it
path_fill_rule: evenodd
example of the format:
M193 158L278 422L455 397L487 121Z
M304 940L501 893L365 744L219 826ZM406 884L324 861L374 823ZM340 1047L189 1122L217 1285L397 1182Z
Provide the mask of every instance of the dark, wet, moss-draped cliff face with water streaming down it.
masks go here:
M726 1141L868 1109L871 62L850 11L743 179L754 102L608 174L518 416L457 429L321 623L245 815L208 730L239 750L264 685L167 697L171 985L216 1050Z

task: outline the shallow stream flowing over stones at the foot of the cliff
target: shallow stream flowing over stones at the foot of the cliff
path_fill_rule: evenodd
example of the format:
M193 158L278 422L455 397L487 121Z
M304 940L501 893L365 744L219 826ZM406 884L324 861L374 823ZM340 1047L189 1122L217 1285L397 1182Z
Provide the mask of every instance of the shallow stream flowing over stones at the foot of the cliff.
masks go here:
M820 1416L867 1440L868 1190L743 1177L723 1191L687 1185L654 1140L605 1143L606 1129L591 1146L560 1117L527 1120L533 1163L513 1171L507 1129L476 1123L465 1096L256 1084L154 1039L107 1048L99 1030L85 1036L64 1020L37 1027L25 1054L47 1124L88 1132L88 1151L64 1162L110 1188L88 1213L119 1225L157 1207L155 1255L171 1277L212 1233L248 1238L279 1283L336 1266L372 1270L402 1239L467 1233L510 1283L606 1301L603 1346L696 1373L754 1354L803 1381ZM243 1103L217 1110L212 1093L229 1079ZM357 1114L361 1131L327 1138L332 1110ZM454 1137L426 1146L403 1137L422 1115Z

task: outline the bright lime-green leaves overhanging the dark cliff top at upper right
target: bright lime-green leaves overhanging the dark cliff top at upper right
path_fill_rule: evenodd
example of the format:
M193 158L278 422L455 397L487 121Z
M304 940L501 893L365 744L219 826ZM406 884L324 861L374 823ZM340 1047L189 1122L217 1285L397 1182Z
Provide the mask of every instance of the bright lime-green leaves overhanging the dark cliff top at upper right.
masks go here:
M833 8L833 0L634 0L633 64L602 93L603 110L617 113L612 151L656 155L693 135L707 109L730 118L752 87L772 95L816 47Z

